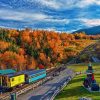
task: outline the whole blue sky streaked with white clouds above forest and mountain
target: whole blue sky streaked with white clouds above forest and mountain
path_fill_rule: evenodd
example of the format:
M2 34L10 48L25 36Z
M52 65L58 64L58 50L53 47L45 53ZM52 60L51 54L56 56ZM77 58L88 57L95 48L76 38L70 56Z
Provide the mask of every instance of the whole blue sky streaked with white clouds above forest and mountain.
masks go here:
M0 0L0 27L60 32L100 25L100 0Z

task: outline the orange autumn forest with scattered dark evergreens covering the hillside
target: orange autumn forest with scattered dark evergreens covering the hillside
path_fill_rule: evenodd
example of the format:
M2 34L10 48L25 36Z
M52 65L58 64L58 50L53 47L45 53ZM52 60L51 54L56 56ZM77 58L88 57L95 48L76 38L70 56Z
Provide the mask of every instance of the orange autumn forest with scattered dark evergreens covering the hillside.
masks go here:
M66 63L100 35L0 28L0 69L17 71Z

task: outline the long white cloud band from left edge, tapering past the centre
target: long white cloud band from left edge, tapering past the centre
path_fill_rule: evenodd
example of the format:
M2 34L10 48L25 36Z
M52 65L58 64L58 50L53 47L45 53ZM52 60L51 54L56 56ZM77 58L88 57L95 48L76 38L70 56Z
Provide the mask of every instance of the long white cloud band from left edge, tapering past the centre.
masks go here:
M9 13L8 13L9 12ZM32 22L32 21L40 21L40 22L53 22L53 23L64 23L68 24L68 19L57 19L53 16L46 15L44 13L26 13L26 12L18 12L12 10L0 10L0 18L6 20L16 20L23 22Z

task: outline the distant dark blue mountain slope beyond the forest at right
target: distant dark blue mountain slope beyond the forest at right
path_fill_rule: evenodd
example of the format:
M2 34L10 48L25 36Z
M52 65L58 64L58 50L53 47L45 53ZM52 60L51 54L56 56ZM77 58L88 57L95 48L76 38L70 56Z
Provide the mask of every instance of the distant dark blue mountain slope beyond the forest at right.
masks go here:
M76 33L76 32L77 33L85 32L87 35L97 35L97 34L100 34L100 26L94 26L94 27L90 27L90 28L80 29L73 33Z

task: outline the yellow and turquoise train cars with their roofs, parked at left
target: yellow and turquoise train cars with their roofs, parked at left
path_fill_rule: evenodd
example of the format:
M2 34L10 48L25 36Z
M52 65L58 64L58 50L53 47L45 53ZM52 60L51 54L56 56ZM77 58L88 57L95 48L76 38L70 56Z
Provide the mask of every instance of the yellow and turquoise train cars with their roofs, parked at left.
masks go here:
M31 84L46 77L46 69L16 72L12 69L0 70L0 87L10 89L23 84Z

